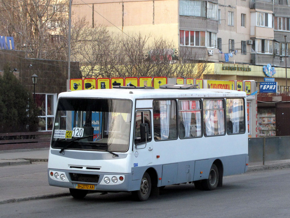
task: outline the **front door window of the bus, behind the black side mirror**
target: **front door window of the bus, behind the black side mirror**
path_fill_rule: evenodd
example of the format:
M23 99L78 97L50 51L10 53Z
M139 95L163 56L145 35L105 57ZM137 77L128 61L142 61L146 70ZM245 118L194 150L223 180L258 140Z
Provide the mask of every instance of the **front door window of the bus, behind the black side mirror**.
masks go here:
M151 137L151 115L150 111L138 111L136 112L135 117L135 136L134 136L134 143L135 144L141 144L145 143L145 141L141 140L141 134L140 134L140 124L146 123L148 124L148 135L149 135L149 141L150 142Z

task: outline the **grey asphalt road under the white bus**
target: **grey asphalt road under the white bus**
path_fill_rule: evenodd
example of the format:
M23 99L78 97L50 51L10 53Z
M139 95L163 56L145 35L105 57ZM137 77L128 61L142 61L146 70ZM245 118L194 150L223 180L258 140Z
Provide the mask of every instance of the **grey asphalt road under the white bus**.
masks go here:
M0 217L290 217L290 169L224 177L223 187L200 191L170 185L157 199L135 202L130 193L88 194L0 205Z

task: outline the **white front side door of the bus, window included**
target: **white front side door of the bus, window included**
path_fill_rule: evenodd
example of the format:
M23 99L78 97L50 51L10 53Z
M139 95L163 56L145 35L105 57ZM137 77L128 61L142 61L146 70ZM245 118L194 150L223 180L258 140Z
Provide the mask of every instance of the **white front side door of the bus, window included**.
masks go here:
M135 112L134 131L134 167L147 166L152 163L153 142L152 142L152 110L138 110ZM140 124L148 124L148 140L141 139Z

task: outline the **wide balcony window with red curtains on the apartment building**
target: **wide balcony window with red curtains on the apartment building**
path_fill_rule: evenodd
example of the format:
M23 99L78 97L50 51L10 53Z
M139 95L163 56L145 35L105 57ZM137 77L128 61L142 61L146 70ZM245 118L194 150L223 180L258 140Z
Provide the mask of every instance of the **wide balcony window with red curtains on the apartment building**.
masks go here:
M206 31L180 30L181 46L217 47L217 34Z

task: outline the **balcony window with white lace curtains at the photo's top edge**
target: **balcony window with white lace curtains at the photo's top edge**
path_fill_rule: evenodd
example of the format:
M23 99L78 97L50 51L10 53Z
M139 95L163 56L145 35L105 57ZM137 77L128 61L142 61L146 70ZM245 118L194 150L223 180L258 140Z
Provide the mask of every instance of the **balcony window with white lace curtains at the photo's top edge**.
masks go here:
M206 1L180 0L179 15L205 17Z

